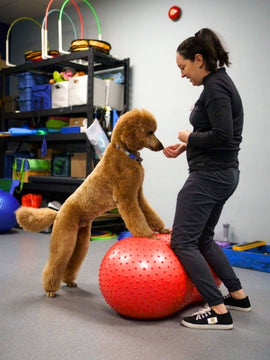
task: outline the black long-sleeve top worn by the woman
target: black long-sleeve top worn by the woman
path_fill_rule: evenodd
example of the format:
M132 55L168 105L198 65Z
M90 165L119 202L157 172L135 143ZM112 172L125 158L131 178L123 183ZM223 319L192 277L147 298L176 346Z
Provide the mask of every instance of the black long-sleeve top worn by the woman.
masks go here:
M243 106L225 68L203 79L204 90L190 114L193 132L187 146L189 170L238 166Z

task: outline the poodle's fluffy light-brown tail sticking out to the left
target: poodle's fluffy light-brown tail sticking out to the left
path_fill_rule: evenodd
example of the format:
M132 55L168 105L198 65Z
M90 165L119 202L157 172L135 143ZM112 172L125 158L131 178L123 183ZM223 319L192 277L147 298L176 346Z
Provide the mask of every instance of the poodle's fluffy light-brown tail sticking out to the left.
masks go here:
M54 222L57 211L49 208L34 209L21 206L16 210L18 224L26 231L39 232Z

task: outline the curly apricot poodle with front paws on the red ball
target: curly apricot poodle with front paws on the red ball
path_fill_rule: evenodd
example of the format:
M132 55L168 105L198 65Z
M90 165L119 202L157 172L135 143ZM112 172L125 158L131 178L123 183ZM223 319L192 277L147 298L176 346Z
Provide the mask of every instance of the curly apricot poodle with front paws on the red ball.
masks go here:
M76 287L74 280L90 243L92 221L117 207L133 236L152 237L168 233L164 223L143 195L144 169L139 150L163 149L154 135L157 123L147 110L133 109L120 116L111 142L93 172L71 194L59 211L20 207L19 225L39 232L53 223L48 263L42 272L42 285L54 297L61 281Z

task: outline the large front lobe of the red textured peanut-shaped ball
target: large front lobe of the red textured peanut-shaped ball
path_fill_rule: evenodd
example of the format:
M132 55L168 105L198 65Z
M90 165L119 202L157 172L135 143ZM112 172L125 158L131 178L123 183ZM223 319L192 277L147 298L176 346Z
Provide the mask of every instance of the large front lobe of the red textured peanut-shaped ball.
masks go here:
M99 269L104 299L119 314L157 319L179 311L192 283L167 243L129 237L105 254Z

